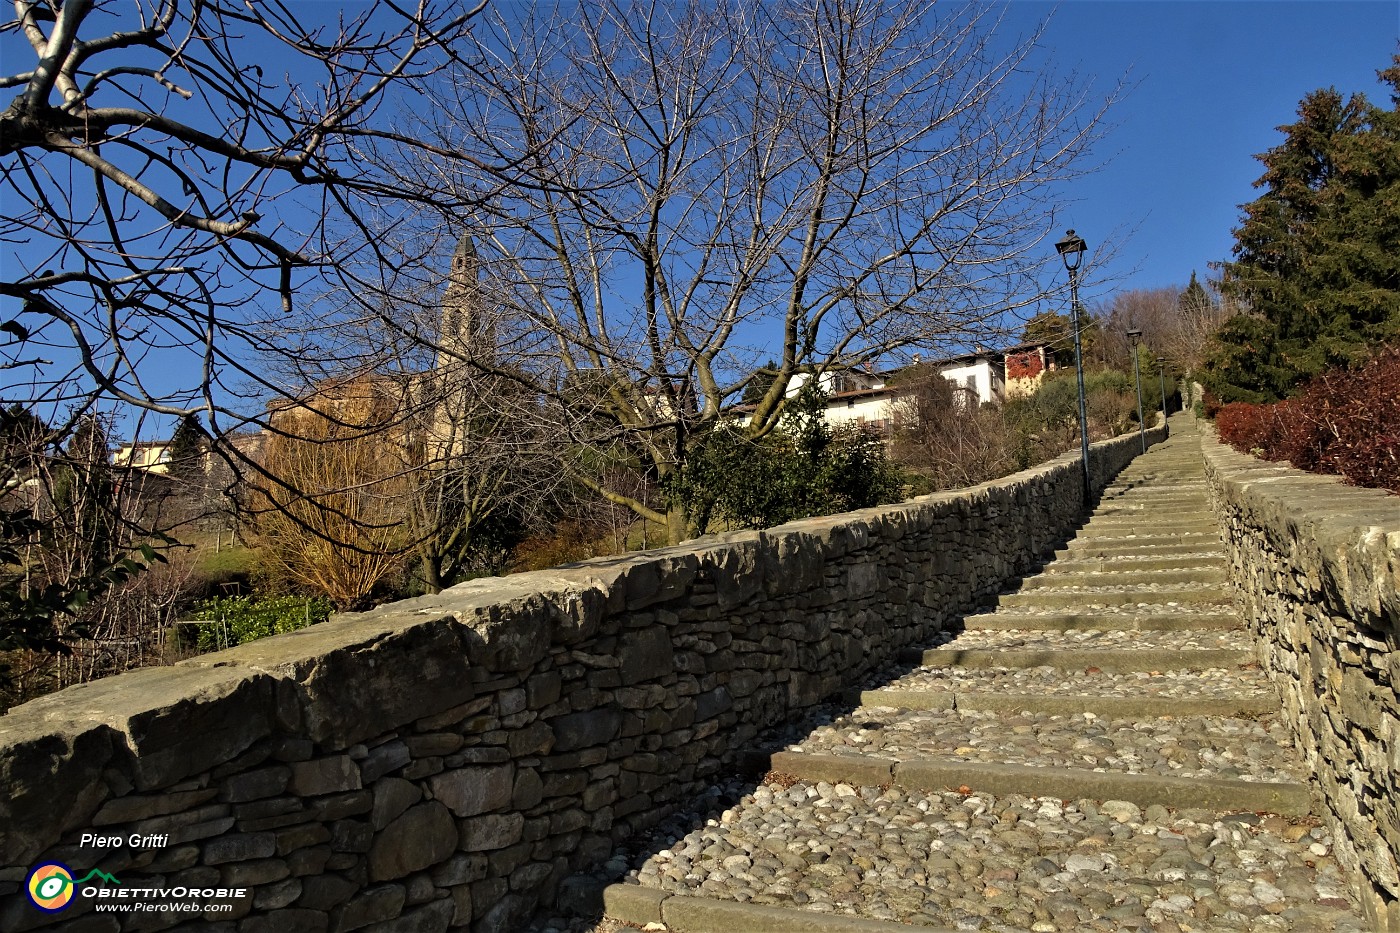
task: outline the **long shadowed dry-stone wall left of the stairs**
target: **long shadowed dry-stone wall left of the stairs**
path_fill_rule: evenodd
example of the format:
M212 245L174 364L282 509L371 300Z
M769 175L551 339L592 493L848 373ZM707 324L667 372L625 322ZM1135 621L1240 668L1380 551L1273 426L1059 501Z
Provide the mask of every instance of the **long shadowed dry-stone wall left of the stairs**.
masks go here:
M1138 444L1093 445L1096 489ZM56 860L211 902L244 888L204 913L239 933L519 930L762 730L1030 569L1084 514L1081 475L1075 451L477 580L25 703L0 717L0 929L104 920L28 905L27 871Z

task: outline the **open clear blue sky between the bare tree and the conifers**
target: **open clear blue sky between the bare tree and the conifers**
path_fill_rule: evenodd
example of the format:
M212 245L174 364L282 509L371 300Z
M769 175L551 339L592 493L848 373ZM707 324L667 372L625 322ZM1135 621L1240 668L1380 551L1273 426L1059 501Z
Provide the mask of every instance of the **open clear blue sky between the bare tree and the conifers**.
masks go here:
M1396 0L1014 0L1011 25L1051 11L1057 70L1105 91L1137 81L1102 148L1112 161L1075 184L1067 224L1091 247L1119 241L1114 287L1184 283L1229 258L1238 206L1259 195L1253 156L1282 140L1275 127L1309 91L1389 106L1376 71L1397 50Z

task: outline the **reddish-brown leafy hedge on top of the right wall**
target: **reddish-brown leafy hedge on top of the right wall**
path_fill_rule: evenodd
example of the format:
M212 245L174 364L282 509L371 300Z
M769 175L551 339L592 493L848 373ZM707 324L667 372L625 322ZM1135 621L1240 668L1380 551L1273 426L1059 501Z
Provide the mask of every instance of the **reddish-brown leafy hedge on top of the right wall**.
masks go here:
M1320 375L1284 402L1225 405L1215 424L1236 450L1400 493L1400 347Z

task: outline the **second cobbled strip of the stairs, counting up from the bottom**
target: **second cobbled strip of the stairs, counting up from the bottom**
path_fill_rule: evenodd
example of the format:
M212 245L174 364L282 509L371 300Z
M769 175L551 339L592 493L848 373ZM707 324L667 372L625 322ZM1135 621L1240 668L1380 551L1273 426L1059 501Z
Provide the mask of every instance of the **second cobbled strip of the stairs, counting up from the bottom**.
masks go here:
M1148 720L1085 713L1015 716L976 710L862 707L820 726L788 751L823 755L956 758L986 763L1084 768L1173 778L1306 782L1288 727L1277 717Z

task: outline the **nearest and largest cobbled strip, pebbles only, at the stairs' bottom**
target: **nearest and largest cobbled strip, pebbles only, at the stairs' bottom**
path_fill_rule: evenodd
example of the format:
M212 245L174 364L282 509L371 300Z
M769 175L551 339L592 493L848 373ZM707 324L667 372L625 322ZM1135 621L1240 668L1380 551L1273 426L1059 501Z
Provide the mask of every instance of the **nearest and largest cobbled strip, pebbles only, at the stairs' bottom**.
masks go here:
M1324 829L1123 801L764 785L629 877L991 933L1365 929Z

